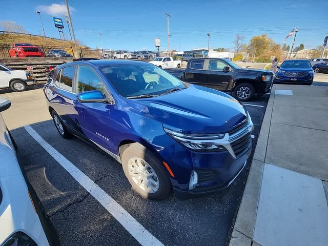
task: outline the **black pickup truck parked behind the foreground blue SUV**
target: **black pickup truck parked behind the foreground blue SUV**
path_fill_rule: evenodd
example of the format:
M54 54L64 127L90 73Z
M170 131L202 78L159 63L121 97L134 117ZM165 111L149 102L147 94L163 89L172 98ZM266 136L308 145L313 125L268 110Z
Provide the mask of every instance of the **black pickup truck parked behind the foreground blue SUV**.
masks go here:
M196 58L188 61L186 69L166 69L182 81L232 91L236 99L247 101L255 94L262 96L271 90L273 72L243 69L226 58Z

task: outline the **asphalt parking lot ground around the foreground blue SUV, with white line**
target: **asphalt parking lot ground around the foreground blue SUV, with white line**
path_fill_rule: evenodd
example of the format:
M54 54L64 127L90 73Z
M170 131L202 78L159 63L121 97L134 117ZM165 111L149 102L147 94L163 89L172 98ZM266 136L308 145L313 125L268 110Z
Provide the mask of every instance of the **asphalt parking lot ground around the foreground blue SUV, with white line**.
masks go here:
M173 194L164 201L145 200L131 189L120 163L112 157L78 138L59 136L49 120L41 88L22 93L4 90L0 96L12 102L3 116L17 143L18 160L62 245L227 243L250 163L231 187L220 193L189 200L177 200ZM268 98L267 94L245 104L255 126L253 151ZM28 125L32 130L24 128ZM44 139L42 145L36 141L37 135ZM81 185L74 173L73 177L65 169L66 162L90 178L96 190L86 190L85 183ZM108 201L105 204L104 199ZM145 238L147 241L142 241Z

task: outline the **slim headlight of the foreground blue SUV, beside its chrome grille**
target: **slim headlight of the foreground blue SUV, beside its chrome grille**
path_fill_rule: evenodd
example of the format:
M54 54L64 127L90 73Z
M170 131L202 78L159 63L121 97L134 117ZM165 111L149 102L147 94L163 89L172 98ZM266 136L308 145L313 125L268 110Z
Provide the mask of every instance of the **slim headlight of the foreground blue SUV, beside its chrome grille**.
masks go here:
M222 134L187 134L164 128L164 131L179 144L199 152L219 152L226 151L222 145L215 144L216 140L222 139Z

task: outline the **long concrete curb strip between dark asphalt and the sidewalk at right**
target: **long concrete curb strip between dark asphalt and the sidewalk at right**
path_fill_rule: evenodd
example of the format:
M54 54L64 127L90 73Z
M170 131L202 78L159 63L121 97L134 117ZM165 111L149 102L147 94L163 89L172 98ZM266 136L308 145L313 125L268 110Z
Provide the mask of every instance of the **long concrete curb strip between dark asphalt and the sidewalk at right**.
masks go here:
M261 131L257 140L251 169L247 178L244 193L241 198L237 218L232 231L229 246L251 246L260 245L253 241L258 201L262 182L265 154L267 153L268 139L270 133L271 116L274 103L273 86L267 109L265 110Z

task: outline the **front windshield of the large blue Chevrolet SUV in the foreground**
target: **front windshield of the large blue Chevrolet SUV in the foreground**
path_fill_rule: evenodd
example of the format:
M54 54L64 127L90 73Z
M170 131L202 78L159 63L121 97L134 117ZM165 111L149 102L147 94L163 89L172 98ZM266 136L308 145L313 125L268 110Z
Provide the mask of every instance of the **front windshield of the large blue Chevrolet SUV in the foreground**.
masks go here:
M152 64L105 65L100 70L124 97L156 96L186 88L181 80Z

